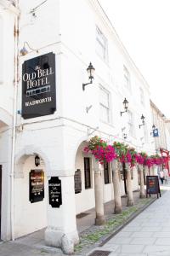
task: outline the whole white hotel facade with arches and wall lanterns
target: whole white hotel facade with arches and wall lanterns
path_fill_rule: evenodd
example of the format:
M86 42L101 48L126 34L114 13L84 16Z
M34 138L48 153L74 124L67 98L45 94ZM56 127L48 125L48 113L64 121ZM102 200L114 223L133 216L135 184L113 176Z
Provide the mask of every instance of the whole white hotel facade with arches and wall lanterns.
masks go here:
M88 139L98 135L110 143L124 141L138 151L154 154L153 124L149 85L99 2L41 3L0 0L1 239L15 239L47 227L47 244L62 247L65 240L77 242L76 215L95 204L93 163L91 156L82 152ZM24 44L28 53L21 55ZM39 108L39 116L24 119L22 65L48 53L55 56L56 110L42 115ZM94 81L82 90L82 84L88 83L89 62L95 68ZM124 98L129 107L121 116ZM48 101L38 104L45 108ZM145 125L139 129L142 114ZM36 155L40 166L35 166ZM31 203L29 174L36 169L44 172L44 198ZM81 170L82 186L75 194L77 169ZM104 201L111 201L111 166L105 166L102 175ZM61 181L59 207L48 203L51 177ZM120 183L124 195L122 179ZM138 188L138 172L133 170L133 189Z

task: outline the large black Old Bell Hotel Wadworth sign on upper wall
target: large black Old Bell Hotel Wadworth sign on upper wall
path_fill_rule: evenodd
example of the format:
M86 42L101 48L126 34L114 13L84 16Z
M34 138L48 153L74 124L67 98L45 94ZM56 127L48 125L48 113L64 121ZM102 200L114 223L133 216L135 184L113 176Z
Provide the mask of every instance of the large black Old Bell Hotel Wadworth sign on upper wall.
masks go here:
M22 65L22 117L31 119L55 110L55 55L50 52Z

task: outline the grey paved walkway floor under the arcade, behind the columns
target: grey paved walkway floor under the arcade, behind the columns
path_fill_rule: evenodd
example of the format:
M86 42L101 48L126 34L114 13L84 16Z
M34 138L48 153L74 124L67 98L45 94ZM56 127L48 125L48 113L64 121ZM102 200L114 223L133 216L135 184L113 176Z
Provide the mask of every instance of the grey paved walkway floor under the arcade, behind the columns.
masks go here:
M134 201L139 201L139 192L133 192ZM127 198L122 197L122 206L126 206ZM83 218L77 218L77 230L82 232L94 225L94 208L88 210ZM105 203L105 217L112 215L113 201ZM0 242L0 256L63 256L59 248L47 247L44 241L44 230L23 236L15 241ZM75 255L76 256L76 255Z

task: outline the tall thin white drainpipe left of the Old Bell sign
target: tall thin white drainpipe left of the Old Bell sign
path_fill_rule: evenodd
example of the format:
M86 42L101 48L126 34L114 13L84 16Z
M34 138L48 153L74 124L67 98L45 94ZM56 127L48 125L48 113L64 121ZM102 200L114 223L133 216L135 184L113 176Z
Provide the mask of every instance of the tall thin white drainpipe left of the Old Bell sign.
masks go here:
M19 0L15 1L16 8L19 7ZM19 74L19 14L14 21L14 103L13 103L13 127L12 127L12 152L11 152L11 239L14 241L14 156L16 142L16 120L17 120L17 95L18 95L18 74Z

